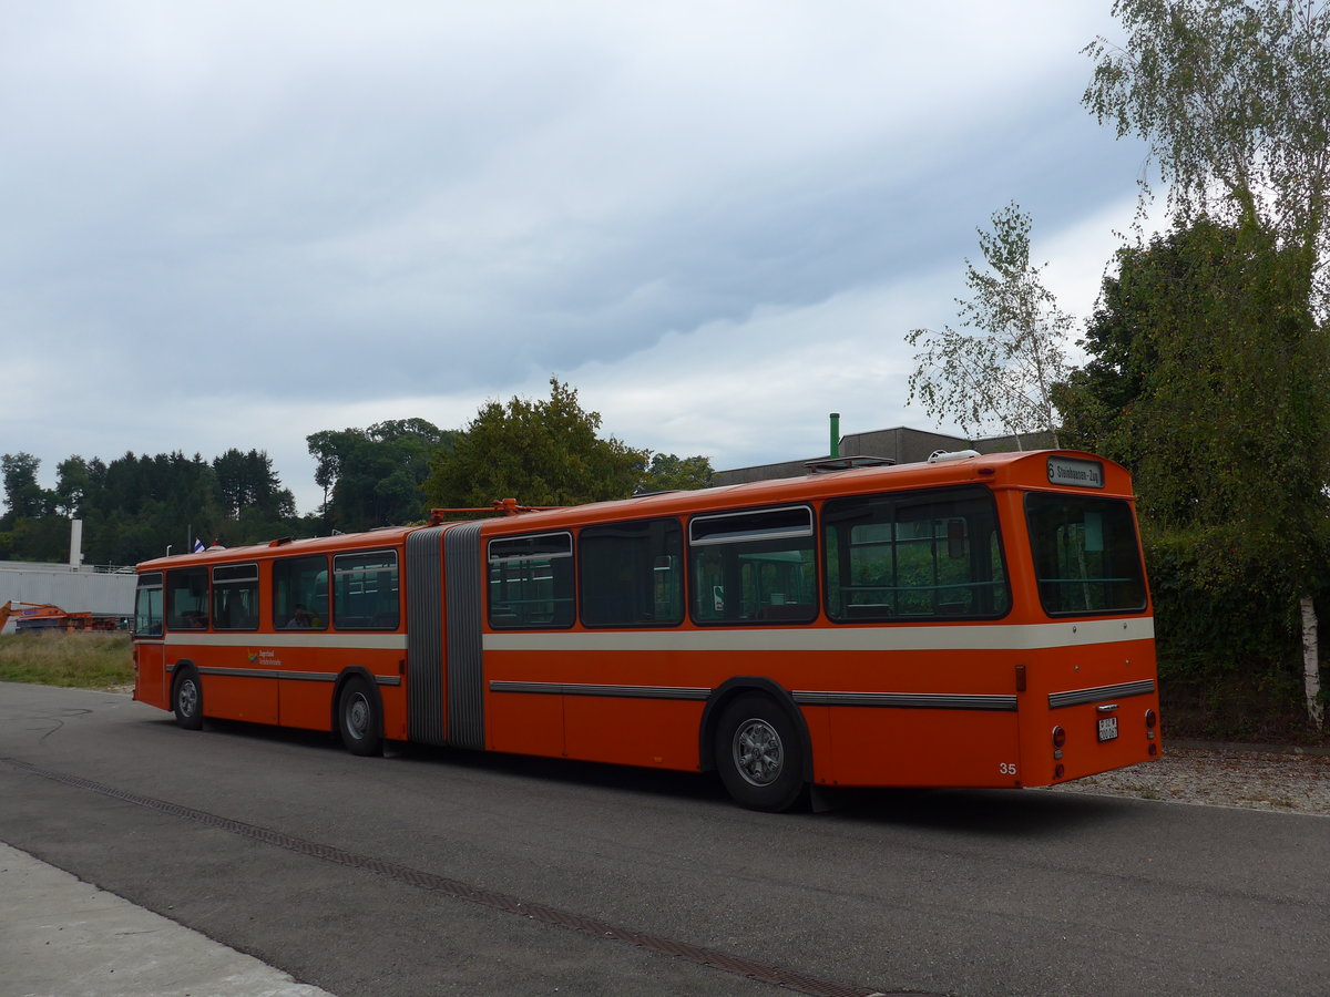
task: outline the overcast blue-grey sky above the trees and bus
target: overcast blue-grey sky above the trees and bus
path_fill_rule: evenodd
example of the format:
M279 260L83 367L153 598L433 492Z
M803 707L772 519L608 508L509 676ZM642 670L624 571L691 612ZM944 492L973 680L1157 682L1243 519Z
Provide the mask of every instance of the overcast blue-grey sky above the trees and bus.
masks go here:
M717 468L906 407L1015 199L1089 312L1142 150L1108 0L0 0L0 452L462 428L556 376ZM946 428L946 427L943 427Z

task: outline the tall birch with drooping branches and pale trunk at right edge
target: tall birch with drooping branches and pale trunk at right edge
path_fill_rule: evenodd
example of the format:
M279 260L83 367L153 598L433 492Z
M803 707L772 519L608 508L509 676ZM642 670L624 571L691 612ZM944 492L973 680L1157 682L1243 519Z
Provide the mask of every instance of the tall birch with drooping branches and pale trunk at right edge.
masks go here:
M1217 223L1233 233L1236 259L1220 270L1237 275L1240 291L1213 286L1214 294L1192 299L1221 312L1230 348L1198 356L1196 376L1172 393L1185 412L1185 400L1206 386L1217 397L1250 386L1241 391L1250 407L1233 421L1212 416L1202 436L1238 464L1265 453L1266 441L1282 445L1283 459L1264 469L1267 488L1254 498L1264 513L1257 542L1289 554L1279 577L1298 593L1307 714L1319 727L1309 593L1323 578L1317 538L1330 481L1330 12L1313 0L1117 0L1113 12L1127 41L1087 47L1096 65L1085 105L1119 136L1149 144L1178 229ZM1279 376L1264 379L1262 368ZM1172 412L1165 407L1160 415ZM1160 424L1157 432L1168 428ZM1237 469L1217 468L1224 479ZM1213 518L1204 521L1234 538L1253 525L1252 509L1236 506L1236 495L1218 509L1210 502ZM1301 550L1290 549L1290 538Z

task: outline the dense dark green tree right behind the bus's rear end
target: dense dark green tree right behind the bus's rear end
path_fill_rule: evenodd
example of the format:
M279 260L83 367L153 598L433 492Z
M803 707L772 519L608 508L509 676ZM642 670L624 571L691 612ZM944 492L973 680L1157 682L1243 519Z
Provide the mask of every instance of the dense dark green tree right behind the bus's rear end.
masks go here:
M1323 516L1289 529L1322 502L1325 469L1297 447L1325 419L1330 356L1306 308L1274 303L1279 255L1213 222L1121 250L1091 360L1057 393L1067 441L1134 475L1161 662L1201 661L1216 687L1270 661L1330 553Z

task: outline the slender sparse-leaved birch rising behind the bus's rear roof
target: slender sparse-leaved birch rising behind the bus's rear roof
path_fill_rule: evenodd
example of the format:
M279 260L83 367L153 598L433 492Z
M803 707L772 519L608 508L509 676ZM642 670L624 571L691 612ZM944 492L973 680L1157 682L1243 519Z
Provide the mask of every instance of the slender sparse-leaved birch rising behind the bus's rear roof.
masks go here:
M1052 389L1067 375L1072 319L1029 262L1029 215L1015 202L979 230L983 266L966 259L970 298L958 298L960 328L916 328L906 335L914 358L907 404L951 420L967 436L994 427L1016 437L1048 433L1057 445Z

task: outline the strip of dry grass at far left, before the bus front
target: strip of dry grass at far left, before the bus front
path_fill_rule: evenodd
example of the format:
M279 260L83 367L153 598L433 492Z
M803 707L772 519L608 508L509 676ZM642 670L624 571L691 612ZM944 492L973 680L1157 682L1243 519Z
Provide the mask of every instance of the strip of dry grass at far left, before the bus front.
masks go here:
M0 682L69 689L134 683L129 634L9 634L0 637Z

